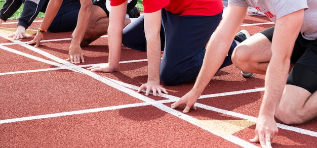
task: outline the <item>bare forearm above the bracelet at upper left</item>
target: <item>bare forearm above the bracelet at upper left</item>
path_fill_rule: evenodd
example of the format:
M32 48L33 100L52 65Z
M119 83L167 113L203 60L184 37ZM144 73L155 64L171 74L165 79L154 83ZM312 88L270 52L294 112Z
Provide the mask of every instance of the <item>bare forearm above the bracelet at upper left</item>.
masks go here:
M63 0L54 0L49 2L45 12L44 19L41 25L39 26L40 28L42 28L43 30L47 30L50 27L62 3Z

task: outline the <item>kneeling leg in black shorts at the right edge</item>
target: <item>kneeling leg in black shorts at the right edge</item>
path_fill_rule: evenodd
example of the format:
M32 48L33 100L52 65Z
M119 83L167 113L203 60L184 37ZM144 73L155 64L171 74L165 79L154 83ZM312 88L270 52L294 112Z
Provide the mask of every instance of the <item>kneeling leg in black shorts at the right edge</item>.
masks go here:
M287 79L275 116L287 124L302 124L317 116L317 39L299 34L291 57L296 62Z

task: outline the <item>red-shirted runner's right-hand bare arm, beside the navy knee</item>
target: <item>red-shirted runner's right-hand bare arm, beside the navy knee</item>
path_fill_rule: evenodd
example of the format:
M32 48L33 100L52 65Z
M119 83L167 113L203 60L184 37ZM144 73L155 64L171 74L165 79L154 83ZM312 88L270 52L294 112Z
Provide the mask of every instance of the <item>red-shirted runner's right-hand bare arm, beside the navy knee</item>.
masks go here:
M168 93L165 88L160 85L160 67L161 67L161 10L144 14L144 32L147 47L148 59L148 77L147 83L142 84L138 90L146 89L145 95L153 91L153 95L162 91Z

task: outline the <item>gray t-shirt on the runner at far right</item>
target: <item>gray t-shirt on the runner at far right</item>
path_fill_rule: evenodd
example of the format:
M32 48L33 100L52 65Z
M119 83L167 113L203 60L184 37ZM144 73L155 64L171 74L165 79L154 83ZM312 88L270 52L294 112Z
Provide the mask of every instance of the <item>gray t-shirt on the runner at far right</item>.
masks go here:
M251 6L263 12L272 22L285 15L305 9L301 33L305 39L317 38L317 3L315 0L229 0L236 6Z

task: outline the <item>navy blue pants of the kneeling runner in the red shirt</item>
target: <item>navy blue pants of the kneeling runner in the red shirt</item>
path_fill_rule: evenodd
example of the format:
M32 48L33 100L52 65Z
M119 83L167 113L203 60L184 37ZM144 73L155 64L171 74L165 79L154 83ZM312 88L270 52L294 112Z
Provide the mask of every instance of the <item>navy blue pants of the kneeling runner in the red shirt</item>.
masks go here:
M164 51L160 76L166 85L181 85L196 79L205 56L205 45L221 20L215 16L177 16L162 9L161 46ZM146 51L144 16L129 24L123 31L123 44L135 50ZM232 64L232 42L221 68Z

